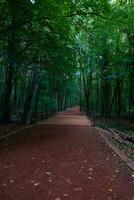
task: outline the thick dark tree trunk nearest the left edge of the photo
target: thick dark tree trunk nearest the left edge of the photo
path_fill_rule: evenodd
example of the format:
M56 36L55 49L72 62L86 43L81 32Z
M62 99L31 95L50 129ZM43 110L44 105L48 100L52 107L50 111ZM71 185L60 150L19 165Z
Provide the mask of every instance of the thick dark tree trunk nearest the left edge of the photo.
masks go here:
M16 24L16 13L14 5L9 3L10 11L10 23L9 26L15 26ZM6 77L5 77L5 88L3 91L2 98L2 110L1 120L3 122L10 122L11 120L11 96L13 88L13 75L14 67L16 65L16 30L10 30L8 32L7 41L7 66L6 66Z

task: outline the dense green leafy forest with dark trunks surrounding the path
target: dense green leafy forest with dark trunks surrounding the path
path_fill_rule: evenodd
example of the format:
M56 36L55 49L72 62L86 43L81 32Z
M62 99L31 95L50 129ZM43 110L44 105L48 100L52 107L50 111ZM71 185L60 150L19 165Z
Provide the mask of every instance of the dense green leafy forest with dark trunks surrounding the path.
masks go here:
M73 105L134 120L133 0L0 0L0 122Z

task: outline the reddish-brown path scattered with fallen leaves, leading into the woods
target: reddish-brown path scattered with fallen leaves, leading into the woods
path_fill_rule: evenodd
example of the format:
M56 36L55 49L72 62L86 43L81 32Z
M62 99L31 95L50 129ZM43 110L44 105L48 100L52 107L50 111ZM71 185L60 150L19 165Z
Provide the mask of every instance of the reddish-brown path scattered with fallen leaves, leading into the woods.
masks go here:
M77 108L0 142L0 200L133 200L134 178Z

